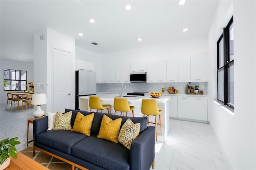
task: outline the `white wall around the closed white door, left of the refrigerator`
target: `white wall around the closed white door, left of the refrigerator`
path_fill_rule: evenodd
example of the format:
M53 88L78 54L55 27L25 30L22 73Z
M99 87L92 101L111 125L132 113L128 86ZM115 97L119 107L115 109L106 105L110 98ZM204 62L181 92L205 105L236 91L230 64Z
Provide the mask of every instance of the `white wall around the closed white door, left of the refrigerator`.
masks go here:
M45 40L40 40L40 36L45 35ZM35 93L46 93L47 104L43 110L53 112L53 63L52 49L60 49L71 53L71 108L75 108L75 39L64 34L45 28L34 34L34 77L35 82L48 83L52 86L41 86L35 88Z

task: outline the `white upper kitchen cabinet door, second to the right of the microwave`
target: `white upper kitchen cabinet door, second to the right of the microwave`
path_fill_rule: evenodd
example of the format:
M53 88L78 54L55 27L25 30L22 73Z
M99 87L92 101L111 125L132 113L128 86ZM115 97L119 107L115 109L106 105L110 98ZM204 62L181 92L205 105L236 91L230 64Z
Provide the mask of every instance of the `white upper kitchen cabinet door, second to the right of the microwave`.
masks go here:
M156 82L166 82L166 60L156 61Z

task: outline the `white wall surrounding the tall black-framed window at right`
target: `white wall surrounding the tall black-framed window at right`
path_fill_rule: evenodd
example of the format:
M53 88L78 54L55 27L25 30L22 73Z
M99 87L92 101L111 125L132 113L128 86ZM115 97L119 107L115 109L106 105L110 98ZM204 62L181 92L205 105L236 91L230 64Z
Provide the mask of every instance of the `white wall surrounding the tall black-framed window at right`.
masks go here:
M208 36L208 117L231 169L256 169L256 4L219 1ZM216 42L234 14L234 114L212 100L217 97Z

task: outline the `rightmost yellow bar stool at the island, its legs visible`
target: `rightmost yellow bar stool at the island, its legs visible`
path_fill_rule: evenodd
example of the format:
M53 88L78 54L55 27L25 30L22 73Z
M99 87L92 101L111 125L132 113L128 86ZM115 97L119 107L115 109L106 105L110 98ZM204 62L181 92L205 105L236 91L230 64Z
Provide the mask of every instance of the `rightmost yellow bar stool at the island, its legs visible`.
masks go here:
M156 99L142 99L141 103L141 113L144 115L148 115L148 123L154 123L156 126L156 141L157 141L157 125L160 125L161 135L162 135L162 124L161 124L161 116L162 110L158 110L158 105L156 103ZM156 123L156 116L159 115L159 123ZM154 116L155 122L150 122L149 117Z

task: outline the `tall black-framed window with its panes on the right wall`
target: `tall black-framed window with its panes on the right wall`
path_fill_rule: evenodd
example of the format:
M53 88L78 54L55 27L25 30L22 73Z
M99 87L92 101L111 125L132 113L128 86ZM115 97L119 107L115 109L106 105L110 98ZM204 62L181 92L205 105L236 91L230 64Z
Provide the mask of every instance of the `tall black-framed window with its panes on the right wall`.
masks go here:
M217 42L218 101L234 109L233 16Z

